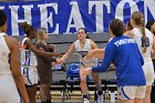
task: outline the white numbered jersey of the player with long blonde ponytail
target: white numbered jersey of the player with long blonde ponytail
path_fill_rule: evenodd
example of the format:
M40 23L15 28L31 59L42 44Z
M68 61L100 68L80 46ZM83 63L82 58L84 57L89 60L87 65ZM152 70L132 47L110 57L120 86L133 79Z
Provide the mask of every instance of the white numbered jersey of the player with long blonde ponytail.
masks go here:
M144 42L142 40L143 34L141 32L141 29L134 28L134 40L138 45L138 50L142 53L144 61L152 61L151 52L152 52L152 47L153 47L153 34L147 29L145 29L145 34L147 38L146 43L145 43L146 52L143 53L143 50L144 50Z

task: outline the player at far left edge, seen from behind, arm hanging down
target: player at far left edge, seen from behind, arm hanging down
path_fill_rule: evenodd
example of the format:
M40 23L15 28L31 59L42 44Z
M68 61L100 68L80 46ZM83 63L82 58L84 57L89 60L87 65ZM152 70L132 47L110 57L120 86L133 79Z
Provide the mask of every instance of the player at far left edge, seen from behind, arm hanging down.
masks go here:
M7 16L0 10L0 103L20 103L19 92L24 103L29 103L20 72L18 41L6 32Z

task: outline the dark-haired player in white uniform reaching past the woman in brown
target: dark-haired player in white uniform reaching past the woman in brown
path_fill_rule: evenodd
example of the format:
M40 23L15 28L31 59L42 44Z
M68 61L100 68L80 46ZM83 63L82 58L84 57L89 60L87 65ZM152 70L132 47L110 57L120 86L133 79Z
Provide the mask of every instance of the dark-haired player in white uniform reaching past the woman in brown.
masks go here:
M21 51L21 70L23 75L27 79L27 91L31 103L35 103L35 93L37 93L37 84L38 84L38 71L37 71L37 59L35 55L43 58L52 58L52 55L61 55L55 52L44 52L42 50L38 50L33 43L32 39L35 39L37 31L35 29L28 24L27 22L21 23L27 38L23 39L22 44L25 45L25 49Z

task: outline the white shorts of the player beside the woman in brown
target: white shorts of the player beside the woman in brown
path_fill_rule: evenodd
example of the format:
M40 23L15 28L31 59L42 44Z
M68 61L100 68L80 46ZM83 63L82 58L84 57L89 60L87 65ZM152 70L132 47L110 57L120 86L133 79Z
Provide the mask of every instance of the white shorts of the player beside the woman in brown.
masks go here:
M21 73L25 76L25 84L27 85L34 85L38 84L38 70L37 66L22 66Z

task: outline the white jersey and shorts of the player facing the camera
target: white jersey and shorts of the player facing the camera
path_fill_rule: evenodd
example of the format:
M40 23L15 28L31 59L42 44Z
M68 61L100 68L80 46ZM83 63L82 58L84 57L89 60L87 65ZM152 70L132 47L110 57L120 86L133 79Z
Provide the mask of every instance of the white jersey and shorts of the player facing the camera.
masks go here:
M80 56L80 62L83 63L87 68L96 66L97 65L97 59L93 58L91 60L84 60L83 58L89 53L91 48L91 40L86 39L86 42L83 48L80 45L80 40L75 41L75 50Z

